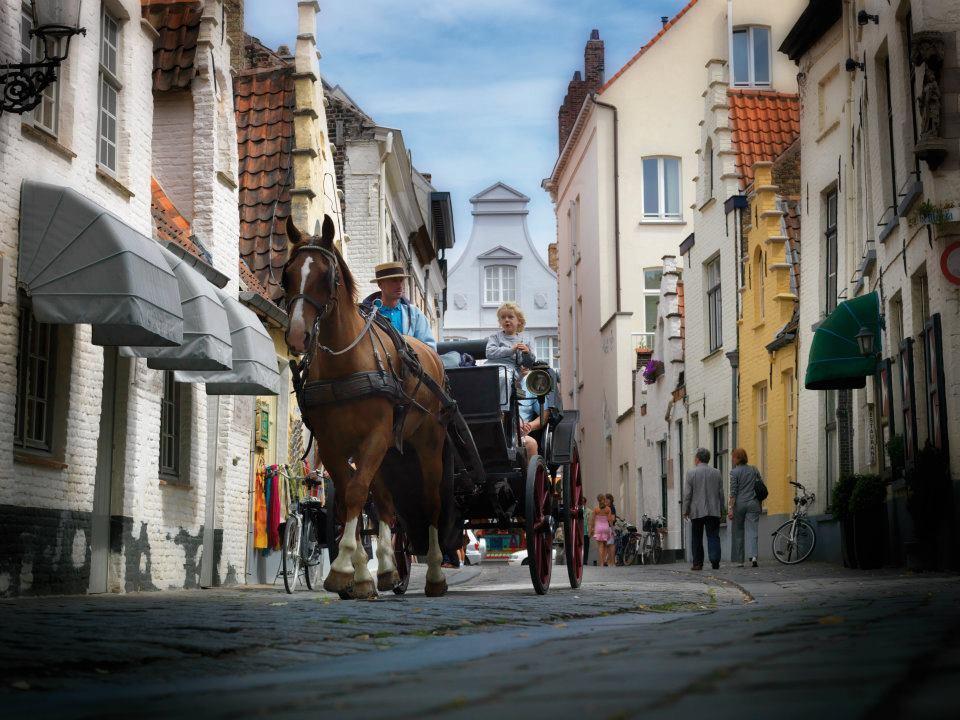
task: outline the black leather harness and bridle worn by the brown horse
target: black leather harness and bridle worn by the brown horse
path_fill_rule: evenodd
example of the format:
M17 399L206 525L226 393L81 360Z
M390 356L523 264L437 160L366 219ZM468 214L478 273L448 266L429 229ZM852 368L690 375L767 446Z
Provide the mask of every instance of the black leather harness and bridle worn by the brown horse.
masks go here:
M325 278L329 291L329 299L327 302L323 304L318 303L312 297L303 293L294 295L288 301L288 307L292 305L294 301L300 299L310 303L317 309L310 347L300 362L295 360L290 361L293 389L296 393L300 409L303 411L304 424L307 426L307 429L310 430L311 443L315 433L313 428L308 424L305 412L307 409L321 405L332 405L334 403L365 400L371 397L382 397L389 400L393 405L394 445L397 450L403 452L403 428L410 409L417 407L427 415L431 414L429 410L416 400L417 392L421 386L425 386L439 398L440 413L437 420L441 425L446 427L450 419L457 414L457 402L450 396L445 386L441 387L441 385L423 369L420 359L410 345L403 339L400 333L397 332L393 324L380 315L376 308L371 308L367 315L364 315L363 311L358 309L360 316L364 318L364 326L357 337L354 338L353 342L347 347L342 350L333 350L319 343L320 322L330 314L337 301L337 291L341 283L340 263L333 252L319 245L301 245L291 253L291 259L296 253L303 251L320 252L325 256L330 268ZM380 338L377 333L372 332L374 325L382 330L390 339L397 353L397 358L400 361L398 363L398 369L394 369L393 364L390 362L390 351L384 344L382 338ZM333 356L344 355L357 347L365 336L370 338L370 345L377 363L376 370L352 373L333 380L304 380L306 372L309 370L310 365L313 364L314 357L318 351ZM380 346L379 349L377 347L378 345ZM383 355L386 356L386 362L384 362L381 357L381 350L383 351ZM404 385L409 377L415 377L417 384L413 392L408 394L404 389ZM309 452L310 447L308 446L304 457L306 457Z

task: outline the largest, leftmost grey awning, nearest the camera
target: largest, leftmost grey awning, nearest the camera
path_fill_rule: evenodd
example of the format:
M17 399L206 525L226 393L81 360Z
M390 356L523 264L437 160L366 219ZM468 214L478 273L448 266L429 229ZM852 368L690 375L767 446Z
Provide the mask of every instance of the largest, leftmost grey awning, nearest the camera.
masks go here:
M97 345L179 345L180 292L160 250L69 188L21 185L17 277L40 322L93 325Z

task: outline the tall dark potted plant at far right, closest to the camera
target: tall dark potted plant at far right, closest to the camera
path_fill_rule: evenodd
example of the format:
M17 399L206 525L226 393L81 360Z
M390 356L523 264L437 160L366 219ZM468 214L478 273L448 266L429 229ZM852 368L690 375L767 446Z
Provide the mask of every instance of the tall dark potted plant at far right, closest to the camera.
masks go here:
M916 540L905 543L907 565L912 570L936 566L939 514L950 506L950 465L939 448L927 443L905 475L907 511L913 520Z

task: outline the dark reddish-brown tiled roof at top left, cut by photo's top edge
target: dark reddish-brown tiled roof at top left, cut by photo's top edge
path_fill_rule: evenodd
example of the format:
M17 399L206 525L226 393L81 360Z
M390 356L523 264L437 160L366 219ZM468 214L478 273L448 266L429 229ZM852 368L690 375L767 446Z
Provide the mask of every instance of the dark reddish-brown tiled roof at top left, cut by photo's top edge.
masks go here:
M193 61L197 54L203 3L197 0L150 0L142 2L141 13L160 34L153 49L153 89L188 89L197 74Z

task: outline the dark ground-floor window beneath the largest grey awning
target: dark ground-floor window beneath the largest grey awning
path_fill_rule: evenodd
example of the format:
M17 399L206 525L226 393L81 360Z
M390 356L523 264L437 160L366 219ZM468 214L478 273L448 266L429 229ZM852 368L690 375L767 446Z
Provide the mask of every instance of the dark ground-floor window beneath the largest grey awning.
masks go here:
M17 346L17 410L13 444L53 450L53 401L57 367L56 326L37 322L30 300L20 300Z

